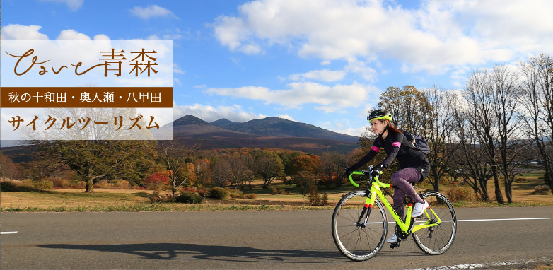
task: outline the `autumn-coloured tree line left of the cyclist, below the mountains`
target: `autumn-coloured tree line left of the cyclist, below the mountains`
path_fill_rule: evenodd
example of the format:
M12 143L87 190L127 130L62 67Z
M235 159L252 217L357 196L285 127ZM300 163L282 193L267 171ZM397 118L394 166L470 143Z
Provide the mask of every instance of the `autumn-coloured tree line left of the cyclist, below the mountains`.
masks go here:
M38 151L25 163L1 155L0 176L36 181L63 177L84 182L93 192L100 181L126 180L148 187L166 182L173 195L182 187L252 189L253 180L269 188L274 180L308 189L316 184L341 184L346 155L303 153L282 149L240 148L214 153L199 145L173 141L34 141ZM163 185L165 185L163 184Z

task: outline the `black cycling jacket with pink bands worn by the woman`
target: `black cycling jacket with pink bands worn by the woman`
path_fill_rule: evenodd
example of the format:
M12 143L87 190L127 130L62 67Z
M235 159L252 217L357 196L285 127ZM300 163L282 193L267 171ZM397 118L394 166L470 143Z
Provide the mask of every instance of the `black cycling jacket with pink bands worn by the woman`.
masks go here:
M378 166L387 168L394 159L397 159L400 169L412 167L421 172L421 180L429 175L430 162L426 159L424 153L414 148L403 134L395 133L390 129L388 129L388 136L385 139L382 139L382 136L378 136L373 143L371 151L368 151L359 162L351 165L349 170L357 170L371 161L376 153L380 151L380 148L384 148L388 156Z

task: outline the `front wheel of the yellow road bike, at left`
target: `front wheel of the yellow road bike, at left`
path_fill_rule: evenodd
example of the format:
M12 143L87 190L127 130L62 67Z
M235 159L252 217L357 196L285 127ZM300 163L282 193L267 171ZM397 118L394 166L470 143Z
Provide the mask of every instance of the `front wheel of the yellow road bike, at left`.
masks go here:
M376 255L388 233L388 218L378 198L371 211L363 211L369 195L365 191L349 192L338 202L332 214L334 243L342 254L354 261L364 261Z

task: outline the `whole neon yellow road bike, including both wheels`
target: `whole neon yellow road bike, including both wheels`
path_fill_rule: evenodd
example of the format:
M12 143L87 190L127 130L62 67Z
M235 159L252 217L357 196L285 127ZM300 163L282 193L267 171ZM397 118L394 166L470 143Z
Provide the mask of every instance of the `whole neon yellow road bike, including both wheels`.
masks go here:
M383 247L388 233L388 209L395 223L398 241L390 247L400 247L401 240L412 235L415 244L426 254L442 254L455 240L457 218L450 201L439 192L419 193L429 203L424 213L412 218L412 204L407 208L406 218L394 211L381 189L392 187L371 177L371 170L353 172L352 175L366 175L366 189L356 190L344 195L332 214L332 237L336 246L349 259L364 261L371 259ZM351 175L349 181L355 187Z

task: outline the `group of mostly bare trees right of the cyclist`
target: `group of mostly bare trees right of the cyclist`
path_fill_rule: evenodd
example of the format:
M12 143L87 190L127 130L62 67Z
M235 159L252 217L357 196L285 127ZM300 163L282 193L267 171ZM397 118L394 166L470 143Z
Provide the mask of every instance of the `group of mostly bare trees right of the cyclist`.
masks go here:
M545 184L553 187L553 59L547 54L472 71L462 90L389 87L378 107L392 112L397 127L429 141L429 182L436 191L444 177L462 177L489 200L493 180L496 201L512 203L513 181L528 160L543 165ZM371 139L365 133L361 141Z

